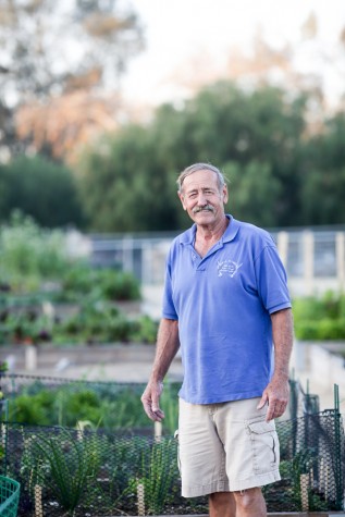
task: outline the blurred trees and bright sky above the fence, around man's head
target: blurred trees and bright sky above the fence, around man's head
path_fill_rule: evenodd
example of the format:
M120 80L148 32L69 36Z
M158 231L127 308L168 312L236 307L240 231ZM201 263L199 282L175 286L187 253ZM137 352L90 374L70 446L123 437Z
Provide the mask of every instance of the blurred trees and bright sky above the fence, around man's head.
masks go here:
M176 231L195 161L266 227L343 224L341 0L2 0L0 218Z

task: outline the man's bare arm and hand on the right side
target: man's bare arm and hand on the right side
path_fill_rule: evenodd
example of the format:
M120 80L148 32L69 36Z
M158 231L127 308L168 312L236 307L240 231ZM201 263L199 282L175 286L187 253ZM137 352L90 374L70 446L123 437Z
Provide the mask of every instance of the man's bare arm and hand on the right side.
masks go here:
M294 323L291 309L271 315L274 344L274 373L262 393L258 409L269 404L266 420L281 417L288 403L288 361L294 342Z

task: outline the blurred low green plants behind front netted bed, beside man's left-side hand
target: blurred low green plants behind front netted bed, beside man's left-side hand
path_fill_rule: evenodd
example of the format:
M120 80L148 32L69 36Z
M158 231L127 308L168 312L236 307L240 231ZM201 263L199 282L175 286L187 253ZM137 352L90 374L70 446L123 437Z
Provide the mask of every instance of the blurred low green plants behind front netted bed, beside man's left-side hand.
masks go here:
M9 399L9 420L33 426L63 426L107 431L151 429L140 402L141 384L70 382L45 385L30 383ZM165 413L163 431L177 429L177 384L165 383L161 404Z

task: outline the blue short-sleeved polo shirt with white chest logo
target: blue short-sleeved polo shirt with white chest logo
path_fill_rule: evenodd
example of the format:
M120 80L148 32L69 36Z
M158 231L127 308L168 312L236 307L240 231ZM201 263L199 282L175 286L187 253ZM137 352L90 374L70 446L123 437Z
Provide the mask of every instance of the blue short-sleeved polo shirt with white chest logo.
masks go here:
M270 313L291 307L286 273L268 232L235 220L204 258L196 225L167 259L163 318L178 320L180 396L213 404L261 396L272 374Z

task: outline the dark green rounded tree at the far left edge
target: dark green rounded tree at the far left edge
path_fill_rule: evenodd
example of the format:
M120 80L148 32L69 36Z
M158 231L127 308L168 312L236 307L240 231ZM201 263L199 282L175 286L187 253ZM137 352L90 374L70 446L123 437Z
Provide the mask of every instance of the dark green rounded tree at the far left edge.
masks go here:
M71 171L39 156L0 165L1 222L14 210L46 227L85 222Z

